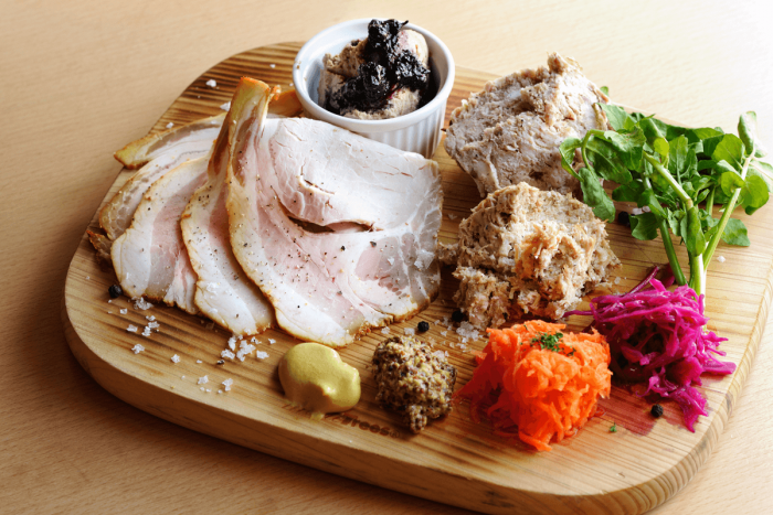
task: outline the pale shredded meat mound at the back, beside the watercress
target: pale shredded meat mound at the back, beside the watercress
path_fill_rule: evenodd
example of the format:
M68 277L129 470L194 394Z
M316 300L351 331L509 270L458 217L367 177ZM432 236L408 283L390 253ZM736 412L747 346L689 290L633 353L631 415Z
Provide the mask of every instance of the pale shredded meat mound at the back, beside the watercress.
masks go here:
M481 195L520 182L579 195L579 182L561 168L559 146L605 130L606 116L595 104L606 101L576 62L552 53L548 67L489 82L454 109L445 149Z

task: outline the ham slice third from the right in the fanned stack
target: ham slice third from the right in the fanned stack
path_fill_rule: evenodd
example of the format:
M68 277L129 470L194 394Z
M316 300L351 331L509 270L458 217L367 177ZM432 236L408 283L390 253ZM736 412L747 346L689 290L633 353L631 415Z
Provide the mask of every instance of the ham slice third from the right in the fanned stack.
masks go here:
M207 158L186 161L166 173L137 206L131 226L110 250L121 288L197 313L197 275L182 243L180 216L193 192L207 180Z

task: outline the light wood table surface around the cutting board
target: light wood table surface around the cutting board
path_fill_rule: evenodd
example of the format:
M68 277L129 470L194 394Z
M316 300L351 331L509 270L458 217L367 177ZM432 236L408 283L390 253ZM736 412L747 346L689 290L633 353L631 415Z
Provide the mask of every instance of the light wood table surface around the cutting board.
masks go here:
M754 109L773 148L765 1L2 1L0 513L464 513L146 415L92 380L62 331L113 151L225 57L368 17L407 19L496 74L559 51L614 100L686 125L734 131ZM652 513L773 513L771 328L712 457Z

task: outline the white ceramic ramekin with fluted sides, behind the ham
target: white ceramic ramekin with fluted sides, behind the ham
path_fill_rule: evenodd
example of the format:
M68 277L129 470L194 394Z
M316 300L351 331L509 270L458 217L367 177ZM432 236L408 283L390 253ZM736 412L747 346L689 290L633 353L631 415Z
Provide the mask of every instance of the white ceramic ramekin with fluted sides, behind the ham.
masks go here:
M401 150L432 158L441 141L445 105L454 86L454 57L448 47L432 32L409 23L406 29L421 33L430 49L432 81L437 94L422 108L389 120L356 120L333 115L317 104L317 86L325 54L338 54L352 40L368 36L371 19L352 20L324 30L311 37L298 52L293 65L293 83L306 116L342 127L375 141Z

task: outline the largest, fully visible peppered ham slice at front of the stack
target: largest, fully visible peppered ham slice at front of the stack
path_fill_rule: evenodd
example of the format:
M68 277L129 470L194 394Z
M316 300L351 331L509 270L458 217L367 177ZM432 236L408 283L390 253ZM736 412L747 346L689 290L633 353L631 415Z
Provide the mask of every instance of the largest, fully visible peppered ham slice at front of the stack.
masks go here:
M266 119L271 96L248 78L234 95L226 206L236 259L279 326L342 346L426 308L437 165L321 121Z

